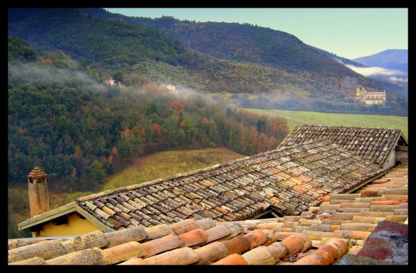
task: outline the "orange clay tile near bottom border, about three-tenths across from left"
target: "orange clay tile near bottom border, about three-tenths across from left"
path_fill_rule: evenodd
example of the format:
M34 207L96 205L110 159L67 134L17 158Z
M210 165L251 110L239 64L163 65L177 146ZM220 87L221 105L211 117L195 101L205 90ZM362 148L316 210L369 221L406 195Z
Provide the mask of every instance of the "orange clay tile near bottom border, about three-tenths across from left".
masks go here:
M144 247L137 242L125 243L103 250L103 255L109 259L110 264L126 261L129 258L144 256L145 254Z

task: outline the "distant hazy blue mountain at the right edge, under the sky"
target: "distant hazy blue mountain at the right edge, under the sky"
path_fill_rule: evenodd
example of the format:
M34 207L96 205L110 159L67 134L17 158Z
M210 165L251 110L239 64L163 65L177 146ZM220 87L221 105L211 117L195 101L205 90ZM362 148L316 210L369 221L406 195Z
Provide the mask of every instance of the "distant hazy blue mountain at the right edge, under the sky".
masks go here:
M388 49L370 56L355 58L354 61L368 67L383 67L408 73L408 50Z

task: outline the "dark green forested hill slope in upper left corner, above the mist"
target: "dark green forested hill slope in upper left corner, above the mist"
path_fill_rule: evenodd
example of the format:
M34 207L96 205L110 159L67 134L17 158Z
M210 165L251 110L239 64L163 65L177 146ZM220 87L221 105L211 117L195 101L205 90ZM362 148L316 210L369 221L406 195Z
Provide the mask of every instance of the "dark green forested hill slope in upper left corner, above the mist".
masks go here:
M198 53L153 28L91 17L78 9L11 8L8 16L10 36L42 51L67 51L71 58L97 67L132 65L147 58L174 65L198 61Z

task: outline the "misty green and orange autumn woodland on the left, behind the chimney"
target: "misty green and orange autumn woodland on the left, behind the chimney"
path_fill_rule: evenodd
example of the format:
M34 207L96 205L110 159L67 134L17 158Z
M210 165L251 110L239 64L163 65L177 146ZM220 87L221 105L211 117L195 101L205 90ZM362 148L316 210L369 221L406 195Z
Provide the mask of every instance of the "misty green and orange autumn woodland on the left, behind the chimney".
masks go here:
M37 165L55 191L94 190L105 175L150 152L227 146L252 155L275 148L288 132L284 118L191 92L168 94L155 82L135 89L98 84L67 56L24 58L24 46L9 60L10 186L26 183Z

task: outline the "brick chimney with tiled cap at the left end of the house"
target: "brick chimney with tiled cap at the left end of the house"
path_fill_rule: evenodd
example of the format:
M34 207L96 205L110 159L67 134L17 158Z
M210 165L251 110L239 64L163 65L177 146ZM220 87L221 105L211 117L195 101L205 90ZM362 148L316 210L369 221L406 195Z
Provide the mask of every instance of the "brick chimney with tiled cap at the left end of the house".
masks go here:
M40 168L37 168L37 166L35 166L28 175L31 218L44 211L49 211L48 184L46 183L47 176L48 175Z

